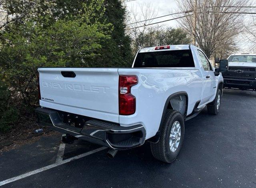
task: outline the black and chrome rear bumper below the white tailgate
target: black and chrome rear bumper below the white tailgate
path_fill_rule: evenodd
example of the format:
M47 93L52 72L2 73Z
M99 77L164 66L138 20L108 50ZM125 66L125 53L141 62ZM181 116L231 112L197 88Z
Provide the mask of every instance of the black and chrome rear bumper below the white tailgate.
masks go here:
M124 127L112 122L90 119L78 128L64 123L56 110L38 107L36 114L38 123L42 126L50 126L58 132L113 149L134 148L144 144L146 138L146 130L140 124Z

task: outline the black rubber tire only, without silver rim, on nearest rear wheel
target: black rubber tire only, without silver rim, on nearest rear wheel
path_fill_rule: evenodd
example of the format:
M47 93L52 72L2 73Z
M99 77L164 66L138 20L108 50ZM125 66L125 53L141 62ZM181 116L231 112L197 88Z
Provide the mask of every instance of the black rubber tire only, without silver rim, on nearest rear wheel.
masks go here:
M174 122L178 121L180 123L180 143L177 149L172 152L170 150L170 133L172 129L172 125ZM182 143L184 140L184 117L177 110L167 110L166 116L164 118L164 122L162 125L162 130L160 134L160 139L157 143L150 143L151 152L154 158L161 160L166 163L174 162L177 158L180 149L182 147Z

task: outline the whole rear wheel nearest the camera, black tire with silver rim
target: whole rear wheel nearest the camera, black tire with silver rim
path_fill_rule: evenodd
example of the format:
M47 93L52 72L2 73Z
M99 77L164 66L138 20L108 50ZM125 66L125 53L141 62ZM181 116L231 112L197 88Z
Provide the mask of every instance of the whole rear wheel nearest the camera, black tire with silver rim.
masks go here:
M160 139L150 143L153 156L166 163L173 162L184 140L184 118L177 110L168 110L162 126Z

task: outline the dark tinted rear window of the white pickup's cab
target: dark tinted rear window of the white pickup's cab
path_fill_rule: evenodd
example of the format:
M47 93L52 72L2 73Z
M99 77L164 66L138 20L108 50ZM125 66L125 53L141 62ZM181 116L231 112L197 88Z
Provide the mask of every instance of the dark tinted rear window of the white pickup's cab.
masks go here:
M134 68L195 67L191 50L165 50L138 53Z

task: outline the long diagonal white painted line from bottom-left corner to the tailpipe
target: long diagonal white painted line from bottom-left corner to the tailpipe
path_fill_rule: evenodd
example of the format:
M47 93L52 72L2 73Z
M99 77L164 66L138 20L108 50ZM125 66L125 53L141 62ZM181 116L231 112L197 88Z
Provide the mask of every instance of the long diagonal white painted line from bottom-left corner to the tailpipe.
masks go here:
M28 173L26 173L26 174L22 174L22 175L20 175L20 176L16 176L16 177L10 178L10 179L8 179L8 180L4 180L4 181L0 182L0 186L5 185L5 184L8 184L8 183L10 183L10 182L14 182L14 181L16 181L16 180L20 180L20 179L22 179L22 178L26 178L26 177L28 177L28 176L32 176L33 174L37 174L37 173L39 173L39 172L43 172L43 171L48 170L48 169L50 169L50 168L54 168L54 167L56 167L56 166L60 166L60 165L62 165L62 164L65 164L65 163L67 163L67 162L70 162L70 161L72 161L72 160L80 159L80 158L82 158L82 157L88 156L88 155L90 155L90 154L94 154L94 153L99 152L99 151L104 150L104 149L106 149L106 147L101 147L101 148L92 150L92 151L90 151L90 152L86 152L86 153L84 153L84 154L81 154L81 155L78 155L78 156L74 156L74 157L69 158L69 159L66 159L66 160L62 160L60 163L54 163L54 164L51 164L51 165L48 165L48 166L39 168L39 169L37 169L37 170L33 170L33 171L28 172Z

